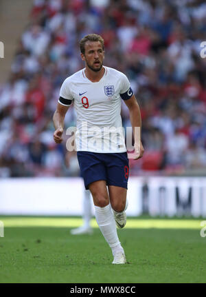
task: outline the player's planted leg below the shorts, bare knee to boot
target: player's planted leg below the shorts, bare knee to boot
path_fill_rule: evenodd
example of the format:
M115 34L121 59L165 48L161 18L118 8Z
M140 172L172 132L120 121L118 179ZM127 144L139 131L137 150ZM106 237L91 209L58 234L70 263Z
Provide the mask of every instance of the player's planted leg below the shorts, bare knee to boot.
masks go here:
M117 236L115 219L106 189L106 181L95 181L89 184L89 190L93 196L95 218L98 226L113 252L113 264L124 264L126 263L126 258L124 256L124 249L122 248Z

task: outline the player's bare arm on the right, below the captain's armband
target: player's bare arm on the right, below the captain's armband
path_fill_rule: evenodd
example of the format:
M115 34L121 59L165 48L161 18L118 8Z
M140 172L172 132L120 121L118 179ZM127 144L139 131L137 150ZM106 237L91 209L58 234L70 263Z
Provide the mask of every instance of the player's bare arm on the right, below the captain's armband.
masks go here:
M124 103L128 107L130 114L130 122L133 127L133 134L135 139L135 160L141 158L144 154L144 147L141 143L141 114L139 109L139 104L137 103L137 99L135 95L130 97L130 99L124 100Z

